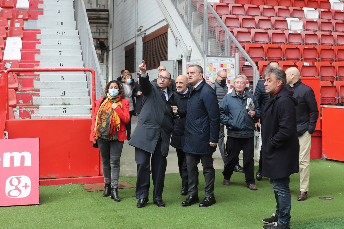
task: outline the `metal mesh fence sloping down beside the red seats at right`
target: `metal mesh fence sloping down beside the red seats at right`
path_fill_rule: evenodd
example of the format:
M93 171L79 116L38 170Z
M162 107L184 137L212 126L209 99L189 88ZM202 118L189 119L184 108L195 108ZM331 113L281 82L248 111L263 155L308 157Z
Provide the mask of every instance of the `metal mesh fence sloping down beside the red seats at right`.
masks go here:
M171 0L190 31L198 49L204 55L234 57L239 53L239 73L245 74L254 92L259 79L257 65L227 26L213 6L204 0Z

